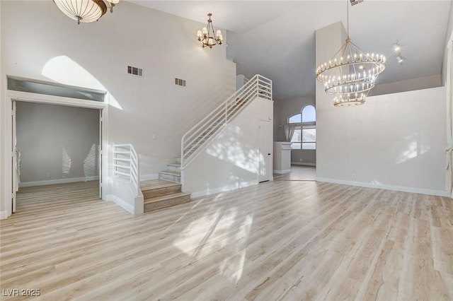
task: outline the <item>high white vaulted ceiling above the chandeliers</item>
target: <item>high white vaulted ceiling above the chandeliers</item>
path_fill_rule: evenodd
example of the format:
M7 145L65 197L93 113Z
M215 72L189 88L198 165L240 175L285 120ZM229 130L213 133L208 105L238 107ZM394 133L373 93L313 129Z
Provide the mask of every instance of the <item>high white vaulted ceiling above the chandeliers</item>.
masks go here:
M315 30L339 20L346 25L349 2L129 1L200 23L212 13L214 26L228 30L227 56L237 72L272 79L277 100L314 96ZM365 0L349 6L352 41L387 57L379 83L440 74L451 5L452 0ZM393 51L396 40L402 65Z

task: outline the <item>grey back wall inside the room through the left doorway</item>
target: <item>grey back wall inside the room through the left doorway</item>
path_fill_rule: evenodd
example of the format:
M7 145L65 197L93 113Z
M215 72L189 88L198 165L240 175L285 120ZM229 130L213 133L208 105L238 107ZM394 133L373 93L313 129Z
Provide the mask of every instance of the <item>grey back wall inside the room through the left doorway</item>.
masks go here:
M19 101L16 124L21 186L98 177L99 110Z

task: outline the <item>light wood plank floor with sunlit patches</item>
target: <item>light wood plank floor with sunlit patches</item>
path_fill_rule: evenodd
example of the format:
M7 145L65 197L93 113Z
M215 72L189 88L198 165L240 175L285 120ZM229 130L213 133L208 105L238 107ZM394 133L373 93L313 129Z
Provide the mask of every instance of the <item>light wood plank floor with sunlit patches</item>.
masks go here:
M79 185L19 194L18 213L1 220L2 290L39 288L42 300L453 300L449 198L276 179L131 216L97 199L96 182Z

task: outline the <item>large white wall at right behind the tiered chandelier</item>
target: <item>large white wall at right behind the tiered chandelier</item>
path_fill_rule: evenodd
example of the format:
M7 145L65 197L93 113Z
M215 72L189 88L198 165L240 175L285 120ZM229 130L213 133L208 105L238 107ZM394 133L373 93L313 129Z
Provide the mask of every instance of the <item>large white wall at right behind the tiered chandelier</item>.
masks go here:
M316 64L339 49L344 33L338 23L316 31ZM317 84L317 179L445 195L445 98L441 87L333 107Z

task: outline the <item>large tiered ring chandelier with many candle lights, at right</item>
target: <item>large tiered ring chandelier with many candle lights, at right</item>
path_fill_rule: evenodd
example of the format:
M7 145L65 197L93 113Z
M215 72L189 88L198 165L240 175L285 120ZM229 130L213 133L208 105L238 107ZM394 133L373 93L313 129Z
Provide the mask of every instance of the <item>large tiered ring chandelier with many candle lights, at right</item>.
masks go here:
M377 76L384 71L386 59L382 54L362 52L349 37L328 62L316 69L316 79L324 83L324 91L335 95L333 105L345 107L363 105L369 90L376 85Z

